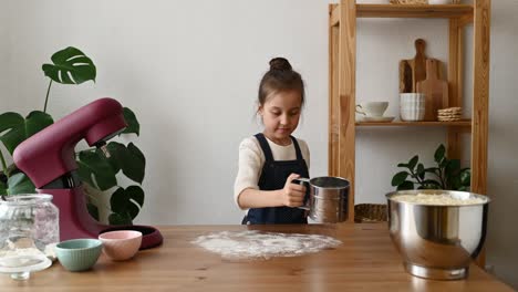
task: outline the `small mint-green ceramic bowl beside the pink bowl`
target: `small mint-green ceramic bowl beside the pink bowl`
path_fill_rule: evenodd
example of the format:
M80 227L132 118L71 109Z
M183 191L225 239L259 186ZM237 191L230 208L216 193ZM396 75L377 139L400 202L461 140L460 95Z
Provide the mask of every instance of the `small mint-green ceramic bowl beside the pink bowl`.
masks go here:
M58 243L55 254L61 265L71 272L85 271L97 262L103 243L96 239L72 239Z

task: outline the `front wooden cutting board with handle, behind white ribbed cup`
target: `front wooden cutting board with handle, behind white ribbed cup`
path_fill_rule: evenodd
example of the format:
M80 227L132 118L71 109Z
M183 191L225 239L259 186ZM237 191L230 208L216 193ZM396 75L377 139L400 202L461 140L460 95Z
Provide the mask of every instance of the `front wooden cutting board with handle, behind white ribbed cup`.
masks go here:
M426 60L426 79L417 82L417 92L425 94L425 121L437 121L437 109L448 107L448 83L437 79L435 59Z

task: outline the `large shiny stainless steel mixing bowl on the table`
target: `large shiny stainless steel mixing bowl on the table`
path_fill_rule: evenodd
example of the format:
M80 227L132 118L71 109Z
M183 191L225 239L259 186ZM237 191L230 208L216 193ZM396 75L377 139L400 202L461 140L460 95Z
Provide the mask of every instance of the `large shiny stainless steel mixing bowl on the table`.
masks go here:
M476 205L423 205L397 201L400 195L469 196ZM486 238L488 197L453 190L400 190L386 194L392 241L413 275L456 280L468 274L469 262L479 253Z

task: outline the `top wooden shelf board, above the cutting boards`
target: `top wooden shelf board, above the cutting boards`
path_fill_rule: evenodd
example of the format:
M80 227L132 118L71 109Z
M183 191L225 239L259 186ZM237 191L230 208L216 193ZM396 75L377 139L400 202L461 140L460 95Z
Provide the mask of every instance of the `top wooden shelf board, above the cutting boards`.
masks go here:
M356 18L445 18L473 21L470 4L356 4ZM340 23L339 4L332 6L331 25Z

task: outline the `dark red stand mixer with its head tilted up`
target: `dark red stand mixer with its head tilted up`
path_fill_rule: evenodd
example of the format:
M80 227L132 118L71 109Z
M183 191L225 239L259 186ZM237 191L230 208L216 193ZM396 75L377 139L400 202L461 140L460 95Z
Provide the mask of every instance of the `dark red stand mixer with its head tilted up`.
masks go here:
M101 225L86 210L75 145L84 138L90 146L103 147L126 126L122 105L112 98L101 98L34 134L14 149L14 164L34 182L38 192L53 195L53 204L60 210L60 240L97 238L105 231L131 229L143 233L141 249L163 242L154 227Z

